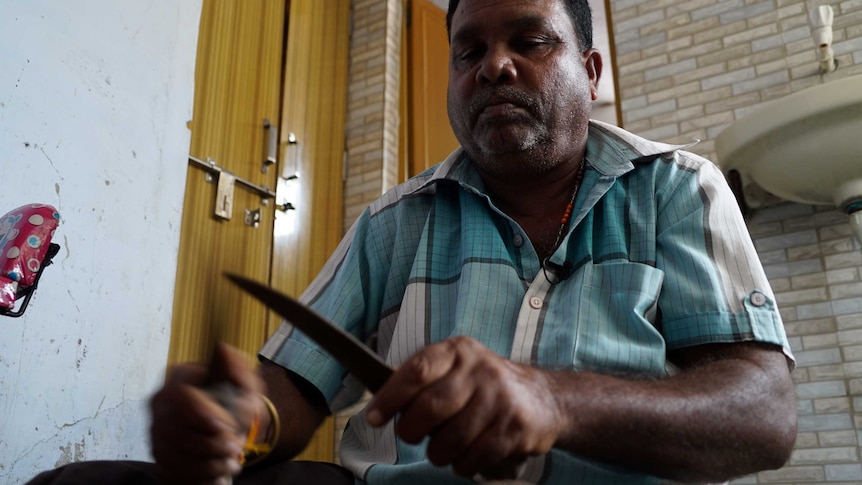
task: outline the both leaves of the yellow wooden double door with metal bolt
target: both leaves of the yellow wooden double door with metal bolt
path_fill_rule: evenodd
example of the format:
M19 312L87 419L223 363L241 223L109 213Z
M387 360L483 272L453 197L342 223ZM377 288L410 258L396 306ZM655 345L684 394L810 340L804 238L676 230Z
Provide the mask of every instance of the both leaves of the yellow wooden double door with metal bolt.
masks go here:
M171 363L207 360L216 339L252 361L281 319L223 273L298 295L335 249L349 14L349 0L204 1L189 123L190 158L203 163L188 171ZM278 162L267 166L273 135ZM301 458L332 461L333 442L328 420Z

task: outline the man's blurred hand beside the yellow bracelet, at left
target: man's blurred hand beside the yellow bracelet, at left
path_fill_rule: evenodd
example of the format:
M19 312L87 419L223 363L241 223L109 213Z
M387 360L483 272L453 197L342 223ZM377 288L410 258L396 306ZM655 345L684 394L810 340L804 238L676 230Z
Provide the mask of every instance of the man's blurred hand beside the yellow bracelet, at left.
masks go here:
M224 344L216 346L209 366L172 367L150 401L152 452L163 479L203 485L238 474L249 425L267 413L264 387L242 354ZM217 398L213 388L229 388L232 395Z

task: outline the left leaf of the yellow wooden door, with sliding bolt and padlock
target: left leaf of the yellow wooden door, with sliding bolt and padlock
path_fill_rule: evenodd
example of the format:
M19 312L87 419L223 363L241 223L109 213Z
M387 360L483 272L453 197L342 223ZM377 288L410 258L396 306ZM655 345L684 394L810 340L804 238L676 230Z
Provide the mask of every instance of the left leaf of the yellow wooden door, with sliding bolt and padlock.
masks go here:
M215 165L188 169L171 363L205 361L216 339L252 356L265 338L266 309L223 273L269 279L275 204L241 183L232 190L223 185L235 176L275 187L276 170L262 169L268 147L264 120L280 118L284 19L284 0L203 2L189 152ZM246 211L259 214L256 225L247 223Z

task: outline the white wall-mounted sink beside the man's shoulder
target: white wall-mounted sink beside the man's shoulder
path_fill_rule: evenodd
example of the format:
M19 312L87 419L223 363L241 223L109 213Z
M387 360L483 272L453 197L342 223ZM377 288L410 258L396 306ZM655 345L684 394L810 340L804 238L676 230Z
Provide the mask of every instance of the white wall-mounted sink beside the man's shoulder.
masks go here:
M761 188L806 204L862 203L862 76L778 99L728 126L715 149L751 207L768 199Z

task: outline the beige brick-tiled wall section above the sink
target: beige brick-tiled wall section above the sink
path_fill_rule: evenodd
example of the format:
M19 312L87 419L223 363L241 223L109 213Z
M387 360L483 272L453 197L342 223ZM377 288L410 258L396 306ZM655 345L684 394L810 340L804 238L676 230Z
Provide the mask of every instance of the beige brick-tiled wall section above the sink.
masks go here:
M622 124L669 142L713 140L759 104L862 74L862 0L612 0ZM840 66L818 74L808 8L831 4Z

